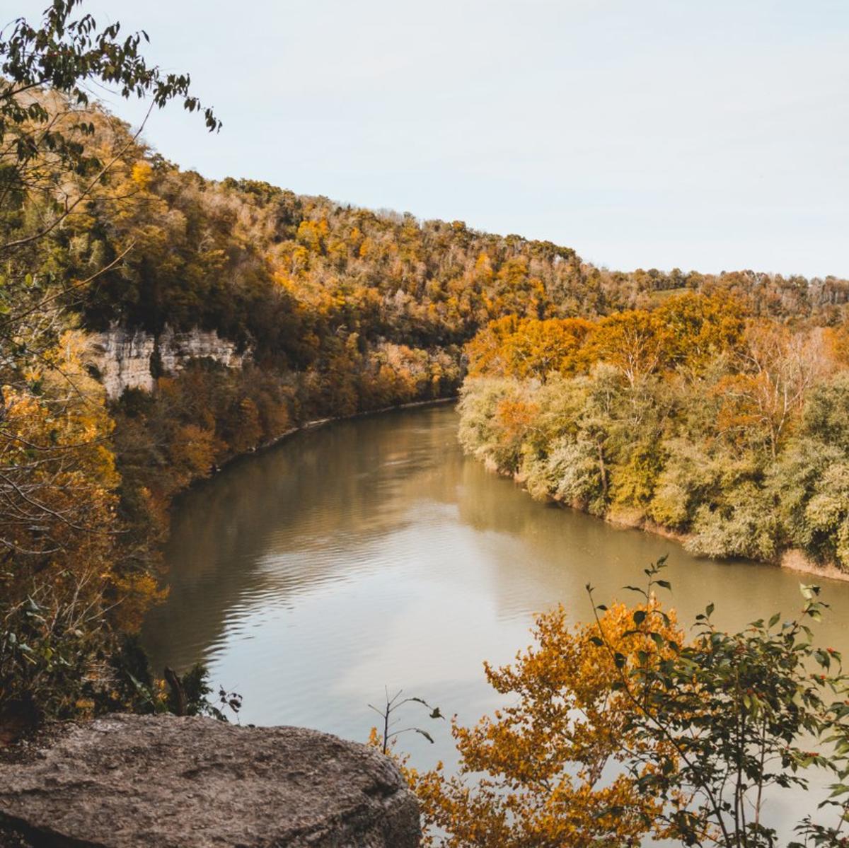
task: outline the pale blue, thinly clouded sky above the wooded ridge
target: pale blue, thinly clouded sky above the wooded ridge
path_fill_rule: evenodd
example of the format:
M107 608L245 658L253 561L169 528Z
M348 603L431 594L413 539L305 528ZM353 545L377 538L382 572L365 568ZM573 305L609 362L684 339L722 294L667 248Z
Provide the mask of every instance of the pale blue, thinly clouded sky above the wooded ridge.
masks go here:
M0 0L0 18L46 5ZM849 0L84 8L191 73L222 131L171 105L144 138L205 177L550 239L621 270L849 277Z

